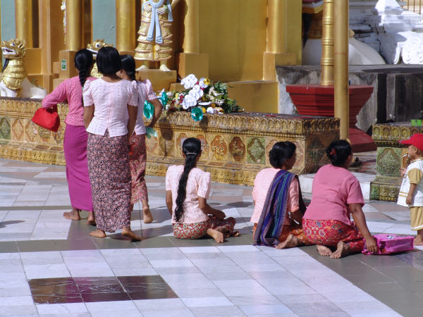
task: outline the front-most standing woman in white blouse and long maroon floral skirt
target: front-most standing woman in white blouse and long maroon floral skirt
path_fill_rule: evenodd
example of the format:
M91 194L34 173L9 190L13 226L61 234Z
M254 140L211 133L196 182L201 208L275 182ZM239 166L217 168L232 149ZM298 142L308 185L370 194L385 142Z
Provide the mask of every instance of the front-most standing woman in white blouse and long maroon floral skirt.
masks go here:
M114 47L99 50L97 67L103 77L87 81L83 89L88 171L97 221L97 230L90 235L102 238L106 232L121 229L131 241L140 241L130 229L128 159L129 139L137 119L137 84L116 76L121 57Z

